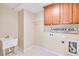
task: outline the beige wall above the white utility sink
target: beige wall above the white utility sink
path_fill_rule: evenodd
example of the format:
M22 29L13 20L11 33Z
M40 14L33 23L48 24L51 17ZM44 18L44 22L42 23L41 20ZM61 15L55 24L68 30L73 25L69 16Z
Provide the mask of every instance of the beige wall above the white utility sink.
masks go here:
M6 35L18 36L18 15L12 9L0 6L0 38Z

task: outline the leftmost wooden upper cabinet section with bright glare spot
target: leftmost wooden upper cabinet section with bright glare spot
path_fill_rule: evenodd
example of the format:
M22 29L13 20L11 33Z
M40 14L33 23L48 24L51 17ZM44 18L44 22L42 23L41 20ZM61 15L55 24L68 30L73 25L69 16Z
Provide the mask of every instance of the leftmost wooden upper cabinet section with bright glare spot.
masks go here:
M59 4L51 4L44 8L44 24L59 24Z

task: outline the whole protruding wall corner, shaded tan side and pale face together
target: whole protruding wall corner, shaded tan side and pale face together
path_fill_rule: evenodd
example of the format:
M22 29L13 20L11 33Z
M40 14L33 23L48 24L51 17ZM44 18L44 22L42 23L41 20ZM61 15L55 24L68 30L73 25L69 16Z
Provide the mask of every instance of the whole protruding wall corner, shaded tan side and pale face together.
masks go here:
M34 14L27 10L19 11L18 43L19 47L26 51L34 45Z

